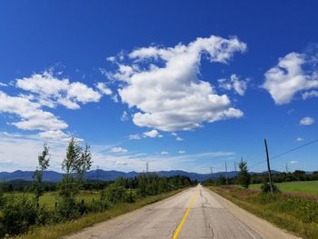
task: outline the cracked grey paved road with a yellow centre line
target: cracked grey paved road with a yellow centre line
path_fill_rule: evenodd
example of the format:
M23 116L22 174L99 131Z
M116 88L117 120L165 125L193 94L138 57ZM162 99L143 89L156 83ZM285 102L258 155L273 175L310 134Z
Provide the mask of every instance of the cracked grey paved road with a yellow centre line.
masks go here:
M198 185L68 239L297 238Z

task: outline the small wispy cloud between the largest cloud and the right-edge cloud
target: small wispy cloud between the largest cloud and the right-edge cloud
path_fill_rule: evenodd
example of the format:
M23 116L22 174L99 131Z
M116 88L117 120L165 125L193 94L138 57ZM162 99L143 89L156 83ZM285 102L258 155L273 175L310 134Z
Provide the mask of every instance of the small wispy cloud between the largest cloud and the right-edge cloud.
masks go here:
M238 95L245 95L248 80L240 80L240 78L233 74L230 79L219 79L219 87L224 90L234 90Z

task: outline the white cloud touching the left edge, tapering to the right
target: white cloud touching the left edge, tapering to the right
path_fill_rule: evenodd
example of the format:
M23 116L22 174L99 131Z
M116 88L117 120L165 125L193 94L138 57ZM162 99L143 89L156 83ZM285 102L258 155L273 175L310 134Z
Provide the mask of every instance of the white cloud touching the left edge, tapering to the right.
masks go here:
M15 114L20 121L10 123L23 130L61 130L68 125L50 112L43 111L40 104L21 96L10 96L0 91L0 113Z

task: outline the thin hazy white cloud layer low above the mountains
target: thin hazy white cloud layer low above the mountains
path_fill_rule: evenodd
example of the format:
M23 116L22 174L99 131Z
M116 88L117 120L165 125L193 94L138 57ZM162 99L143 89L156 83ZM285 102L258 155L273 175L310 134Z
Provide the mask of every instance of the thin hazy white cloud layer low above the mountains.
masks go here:
M37 164L37 155L43 150L44 140L38 134L8 134L0 132L0 164L1 170L12 172L17 168L21 170L34 170ZM65 141L48 141L50 147L49 170L61 172L61 163L65 158ZM108 147L107 147L108 148ZM124 172L142 172L145 169L145 161L151 162L151 167L156 171L180 169L188 172L204 173L202 168L209 168L203 159L214 160L218 164L221 158L234 153L208 152L199 154L111 154L101 145L91 145L94 165L101 169L117 169ZM9 159L9 160L8 160ZM222 164L223 166L223 164Z

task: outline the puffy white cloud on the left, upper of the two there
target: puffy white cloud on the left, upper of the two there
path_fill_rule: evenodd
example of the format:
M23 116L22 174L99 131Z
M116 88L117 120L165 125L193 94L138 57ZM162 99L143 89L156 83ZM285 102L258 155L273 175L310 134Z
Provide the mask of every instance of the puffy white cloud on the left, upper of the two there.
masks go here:
M67 78L58 79L50 71L17 79L15 86L35 95L39 104L51 108L64 105L69 109L79 109L79 103L98 102L102 97L93 88L80 82L70 83ZM97 87L102 94L107 92L103 83L98 83Z

